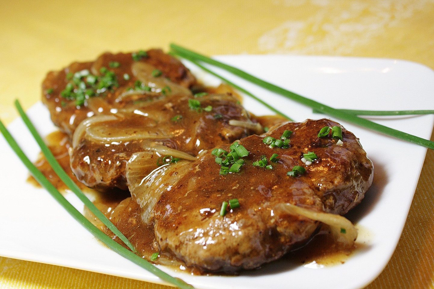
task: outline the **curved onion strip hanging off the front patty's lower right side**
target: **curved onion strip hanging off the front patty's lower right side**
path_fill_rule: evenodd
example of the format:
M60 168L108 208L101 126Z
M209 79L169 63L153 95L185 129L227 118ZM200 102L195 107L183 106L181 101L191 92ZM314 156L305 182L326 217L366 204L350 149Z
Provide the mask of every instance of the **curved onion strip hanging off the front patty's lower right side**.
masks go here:
M316 212L291 204L277 204L275 209L290 215L300 215L308 219L329 225L336 242L342 244L343 246L352 247L354 245L355 239L357 238L357 229L355 226L350 220L340 215Z

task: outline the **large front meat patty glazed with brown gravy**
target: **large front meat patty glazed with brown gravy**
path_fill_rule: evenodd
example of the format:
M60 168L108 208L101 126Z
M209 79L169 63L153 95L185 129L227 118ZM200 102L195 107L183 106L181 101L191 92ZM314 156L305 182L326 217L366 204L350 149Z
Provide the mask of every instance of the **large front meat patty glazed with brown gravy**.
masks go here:
M358 139L344 128L342 144L330 135L319 138L326 126L341 127L328 119L287 122L242 138L238 144L249 154L239 172L226 175L207 151L197 161L165 165L143 179L138 172L141 155L133 155L128 185L142 219L154 224L160 250L207 271L253 269L305 243L319 226L316 220L281 210L281 205L347 213L371 186L373 166ZM263 142L267 136L279 139L285 130L293 131L289 148ZM220 148L230 151L229 145ZM302 161L308 152L317 156L310 165ZM276 162L270 161L273 154L278 154ZM253 165L263 156L272 169ZM288 175L295 166L305 173ZM231 199L240 207L220 216L222 203Z

